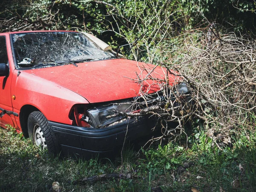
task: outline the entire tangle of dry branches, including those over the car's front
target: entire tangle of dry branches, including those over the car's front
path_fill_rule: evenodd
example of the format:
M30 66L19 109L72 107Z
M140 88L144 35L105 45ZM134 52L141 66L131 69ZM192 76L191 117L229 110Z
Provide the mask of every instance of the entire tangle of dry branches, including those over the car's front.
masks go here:
M208 31L208 32L207 32ZM126 116L153 115L160 119L163 136L177 136L184 132L187 119L199 118L213 132L221 131L222 135L230 128L247 122L256 112L256 42L234 33L218 35L213 27L199 32L189 33L182 43L176 58L164 64L166 76L157 79L153 74L155 68L140 67L140 74L133 79L142 87L140 100L135 105L142 105L142 100L153 99L147 86L161 87L157 93L154 107L147 108L138 114L122 114ZM174 61L179 61L175 64ZM160 64L160 63L159 63ZM159 65L158 64L158 65ZM161 63L163 65L163 63ZM172 71L170 69L174 69ZM147 75L143 76L143 73ZM169 74L177 76L177 80L186 81L192 90L181 96L177 86L169 85ZM151 82L150 84L148 82ZM162 94L162 95L160 95ZM141 99L142 98L142 99ZM186 98L186 99L182 99ZM157 102L157 103L156 103ZM177 127L169 126L169 122L178 122ZM216 139L216 137L215 137Z

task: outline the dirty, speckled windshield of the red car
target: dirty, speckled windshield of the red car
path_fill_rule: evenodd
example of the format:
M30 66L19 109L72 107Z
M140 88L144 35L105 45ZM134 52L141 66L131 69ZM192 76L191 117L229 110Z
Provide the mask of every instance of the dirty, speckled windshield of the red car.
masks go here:
M12 34L18 67L51 67L114 58L83 33L32 32Z

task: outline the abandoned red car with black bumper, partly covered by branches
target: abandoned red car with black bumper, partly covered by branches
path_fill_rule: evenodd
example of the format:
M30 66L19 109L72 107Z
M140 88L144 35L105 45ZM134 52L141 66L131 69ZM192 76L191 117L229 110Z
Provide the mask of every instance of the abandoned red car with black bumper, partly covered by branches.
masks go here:
M126 131L134 140L155 126L154 118L107 118L114 111L138 110L131 101L141 87L131 79L143 63L116 58L94 36L7 32L0 33L0 45L0 126L12 125L50 153L87 157L113 151ZM154 73L163 78L160 67ZM175 79L170 76L170 83ZM143 89L155 93L159 87Z

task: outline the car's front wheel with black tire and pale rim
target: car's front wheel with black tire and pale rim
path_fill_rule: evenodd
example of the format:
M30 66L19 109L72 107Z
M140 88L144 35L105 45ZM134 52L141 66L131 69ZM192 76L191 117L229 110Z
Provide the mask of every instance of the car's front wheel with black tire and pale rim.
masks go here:
M48 149L49 154L57 156L60 154L58 140L48 124L48 120L40 111L33 111L28 118L29 138L39 148Z

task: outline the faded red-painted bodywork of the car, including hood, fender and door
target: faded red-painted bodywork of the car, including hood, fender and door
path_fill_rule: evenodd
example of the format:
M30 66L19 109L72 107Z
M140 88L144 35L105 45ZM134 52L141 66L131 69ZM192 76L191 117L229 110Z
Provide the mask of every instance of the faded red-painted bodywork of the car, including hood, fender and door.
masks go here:
M18 114L24 105L32 105L38 108L48 120L72 125L73 121L69 119L69 114L74 105L108 102L137 96L140 92L140 84L131 79L137 77L135 72L140 74L140 78L145 78L148 74L145 71L141 74L138 66L144 66L148 70L155 67L126 59L109 59L79 63L78 67L68 64L20 70L17 76L18 69L15 69L9 34L0 34L0 36L6 36L10 66L10 75L5 87L0 89L0 108ZM163 79L164 73L166 70L157 67L151 76ZM177 77L174 75L169 76L170 84L175 82L175 78ZM4 77L0 77L0 87L3 86L3 79ZM148 90L152 93L159 90L157 81L144 83L143 91ZM12 99L12 95L16 98ZM81 119L81 116L77 118ZM5 124L11 124L21 130L20 116L6 114L0 119L0 125Z

